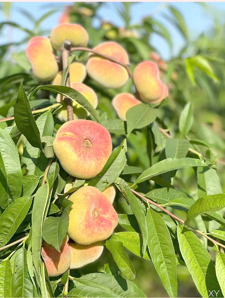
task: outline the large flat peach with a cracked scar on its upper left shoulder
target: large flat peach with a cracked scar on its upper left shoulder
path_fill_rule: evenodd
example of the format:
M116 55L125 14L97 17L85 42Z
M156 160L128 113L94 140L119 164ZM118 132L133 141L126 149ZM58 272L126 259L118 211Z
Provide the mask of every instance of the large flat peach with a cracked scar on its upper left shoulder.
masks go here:
M64 123L56 133L54 152L71 176L91 179L106 164L112 152L109 132L92 120L76 119Z

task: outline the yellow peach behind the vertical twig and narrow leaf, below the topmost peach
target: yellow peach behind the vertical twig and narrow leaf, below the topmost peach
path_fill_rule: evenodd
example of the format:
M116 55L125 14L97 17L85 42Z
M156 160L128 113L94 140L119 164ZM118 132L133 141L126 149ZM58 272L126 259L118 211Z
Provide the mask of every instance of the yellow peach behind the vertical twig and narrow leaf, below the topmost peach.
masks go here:
M70 83L83 83L86 78L87 72L86 67L81 62L72 62L69 68L70 72ZM60 85L62 79L62 72L58 72L54 80L52 81L52 85Z

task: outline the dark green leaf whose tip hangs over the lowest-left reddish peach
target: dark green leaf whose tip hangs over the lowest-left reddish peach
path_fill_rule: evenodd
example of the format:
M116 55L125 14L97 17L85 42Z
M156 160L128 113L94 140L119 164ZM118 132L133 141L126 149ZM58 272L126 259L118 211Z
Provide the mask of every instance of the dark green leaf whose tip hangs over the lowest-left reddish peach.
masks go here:
M66 236L69 225L69 215L64 210L60 217L50 216L45 220L42 237L48 243L60 252L62 240Z

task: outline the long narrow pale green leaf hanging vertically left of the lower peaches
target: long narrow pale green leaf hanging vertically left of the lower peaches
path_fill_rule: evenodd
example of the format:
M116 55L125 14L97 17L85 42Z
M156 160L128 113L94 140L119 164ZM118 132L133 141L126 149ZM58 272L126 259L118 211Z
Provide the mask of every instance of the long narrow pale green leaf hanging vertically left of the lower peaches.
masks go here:
M40 255L42 243L42 228L45 222L45 209L48 204L48 181L43 184L34 196L32 211L32 254L34 266L40 275Z

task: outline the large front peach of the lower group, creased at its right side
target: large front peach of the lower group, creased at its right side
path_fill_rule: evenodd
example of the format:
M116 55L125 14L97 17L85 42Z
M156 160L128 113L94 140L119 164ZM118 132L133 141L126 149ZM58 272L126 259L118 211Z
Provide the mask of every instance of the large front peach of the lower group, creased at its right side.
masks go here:
M110 237L118 223L118 215L100 190L83 186L70 195L68 235L76 243L88 245Z

